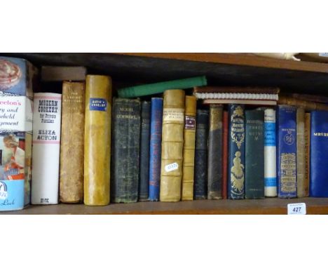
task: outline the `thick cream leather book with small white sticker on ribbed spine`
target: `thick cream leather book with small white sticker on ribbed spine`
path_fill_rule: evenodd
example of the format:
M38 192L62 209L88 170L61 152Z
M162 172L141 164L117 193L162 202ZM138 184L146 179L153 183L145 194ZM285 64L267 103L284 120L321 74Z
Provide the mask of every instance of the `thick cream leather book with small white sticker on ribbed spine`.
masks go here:
M160 201L180 201L184 147L184 91L164 92Z

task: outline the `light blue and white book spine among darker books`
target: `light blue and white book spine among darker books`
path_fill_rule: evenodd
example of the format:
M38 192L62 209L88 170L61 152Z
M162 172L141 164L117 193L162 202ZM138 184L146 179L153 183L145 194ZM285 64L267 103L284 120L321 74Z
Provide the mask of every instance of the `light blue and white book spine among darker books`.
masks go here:
M275 110L264 109L264 195L277 196Z

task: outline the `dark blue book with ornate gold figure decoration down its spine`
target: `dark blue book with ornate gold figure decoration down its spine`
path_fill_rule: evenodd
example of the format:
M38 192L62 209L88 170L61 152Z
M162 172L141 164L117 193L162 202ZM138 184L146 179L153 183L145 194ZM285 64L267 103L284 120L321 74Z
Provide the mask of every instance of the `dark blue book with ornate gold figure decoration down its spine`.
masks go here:
M243 199L245 195L245 107L244 105L228 105L228 111L228 196L230 199Z

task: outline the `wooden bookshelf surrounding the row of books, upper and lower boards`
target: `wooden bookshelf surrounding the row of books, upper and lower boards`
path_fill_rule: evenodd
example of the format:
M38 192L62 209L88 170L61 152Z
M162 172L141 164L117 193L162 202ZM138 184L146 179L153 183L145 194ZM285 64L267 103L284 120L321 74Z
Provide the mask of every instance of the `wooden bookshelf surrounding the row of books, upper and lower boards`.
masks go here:
M278 86L282 91L327 95L328 64L275 60L224 53L0 53L27 58L35 65L84 65L91 74L108 74L114 90L206 75L215 85ZM104 207L29 206L1 214L286 214L288 203L306 203L308 214L328 214L328 199L259 199L139 202Z

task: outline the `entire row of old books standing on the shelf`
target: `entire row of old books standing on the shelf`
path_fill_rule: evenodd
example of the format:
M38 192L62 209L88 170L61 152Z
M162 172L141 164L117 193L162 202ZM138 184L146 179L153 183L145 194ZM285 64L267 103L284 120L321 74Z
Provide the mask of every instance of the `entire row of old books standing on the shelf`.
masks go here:
M0 57L0 210L328 196L324 100L276 106L278 88L208 87L204 76L113 98L109 76L69 68L41 74L59 93L33 93L38 70Z

